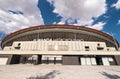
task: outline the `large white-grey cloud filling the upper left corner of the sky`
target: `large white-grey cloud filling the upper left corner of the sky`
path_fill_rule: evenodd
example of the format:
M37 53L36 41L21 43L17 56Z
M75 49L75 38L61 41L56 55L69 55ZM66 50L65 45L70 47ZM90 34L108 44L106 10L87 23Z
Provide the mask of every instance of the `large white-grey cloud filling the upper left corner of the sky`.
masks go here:
M0 0L0 31L10 33L43 24L37 4L38 0Z

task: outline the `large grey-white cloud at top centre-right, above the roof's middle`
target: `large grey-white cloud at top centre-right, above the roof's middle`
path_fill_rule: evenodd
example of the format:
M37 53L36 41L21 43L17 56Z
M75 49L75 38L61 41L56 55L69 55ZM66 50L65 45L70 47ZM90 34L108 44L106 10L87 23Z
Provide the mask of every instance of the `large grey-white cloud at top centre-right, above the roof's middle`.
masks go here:
M62 16L63 23L68 18L77 19L78 25L92 25L93 18L106 12L105 0L47 0L54 6L54 13ZM73 20L71 20L74 22Z

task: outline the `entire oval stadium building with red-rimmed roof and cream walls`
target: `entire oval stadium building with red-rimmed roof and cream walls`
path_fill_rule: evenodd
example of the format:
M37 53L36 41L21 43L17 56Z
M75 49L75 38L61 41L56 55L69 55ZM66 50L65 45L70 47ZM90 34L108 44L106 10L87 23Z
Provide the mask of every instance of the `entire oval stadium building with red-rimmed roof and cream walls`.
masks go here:
M6 36L4 64L120 65L118 42L101 31L74 25L41 25Z

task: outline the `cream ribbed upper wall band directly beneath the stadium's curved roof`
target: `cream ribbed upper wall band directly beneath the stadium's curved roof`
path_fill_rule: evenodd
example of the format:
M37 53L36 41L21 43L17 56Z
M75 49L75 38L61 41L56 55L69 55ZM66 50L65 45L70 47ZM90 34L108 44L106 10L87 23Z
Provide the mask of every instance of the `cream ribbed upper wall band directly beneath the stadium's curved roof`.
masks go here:
M100 48L100 49L98 49ZM106 47L104 42L88 41L19 41L4 50L39 50L39 51L115 51Z

